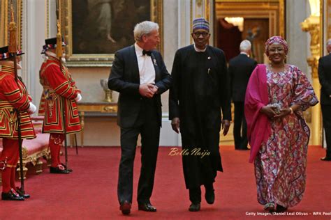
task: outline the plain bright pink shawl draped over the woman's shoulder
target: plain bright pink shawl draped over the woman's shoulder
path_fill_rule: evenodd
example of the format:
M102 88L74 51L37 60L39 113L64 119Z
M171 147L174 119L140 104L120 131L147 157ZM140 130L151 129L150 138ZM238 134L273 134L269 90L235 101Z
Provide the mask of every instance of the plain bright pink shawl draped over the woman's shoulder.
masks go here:
M247 121L247 137L251 146L249 162L252 163L258 154L261 143L267 142L271 134L270 122L260 109L267 105L267 71L265 65L259 64L249 78L245 97L245 117Z

